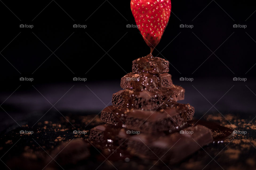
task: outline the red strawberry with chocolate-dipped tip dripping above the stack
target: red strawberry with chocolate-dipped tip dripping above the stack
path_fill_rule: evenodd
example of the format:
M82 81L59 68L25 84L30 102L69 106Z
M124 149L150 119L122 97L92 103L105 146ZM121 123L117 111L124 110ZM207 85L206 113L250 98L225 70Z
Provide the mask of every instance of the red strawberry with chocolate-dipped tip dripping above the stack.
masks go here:
M171 13L170 0L131 0L131 11L142 37L151 49L162 38Z

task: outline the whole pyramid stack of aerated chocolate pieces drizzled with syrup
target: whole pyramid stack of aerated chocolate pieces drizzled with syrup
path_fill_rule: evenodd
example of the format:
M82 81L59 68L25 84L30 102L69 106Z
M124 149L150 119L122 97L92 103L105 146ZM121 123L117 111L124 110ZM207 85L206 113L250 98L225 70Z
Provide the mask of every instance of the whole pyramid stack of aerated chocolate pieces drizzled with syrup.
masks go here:
M210 129L187 123L194 107L177 103L185 89L174 85L167 72L169 62L162 58L148 55L133 61L132 73L121 79L124 90L114 93L112 106L101 112L106 124L91 129L89 139L96 147L121 158L128 152L174 163L213 140Z

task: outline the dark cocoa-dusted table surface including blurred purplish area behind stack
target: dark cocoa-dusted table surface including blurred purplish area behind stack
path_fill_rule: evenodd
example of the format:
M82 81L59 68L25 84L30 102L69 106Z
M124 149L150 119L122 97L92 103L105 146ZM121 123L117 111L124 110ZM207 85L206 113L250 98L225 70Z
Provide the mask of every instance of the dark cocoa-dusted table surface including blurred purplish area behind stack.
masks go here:
M133 158L130 162L120 160L102 163L104 160L96 160L92 156L72 166L59 166L56 162L52 162L45 167L47 164L45 160L49 158L47 153L51 153L61 143L75 138L72 132L74 127L90 130L102 124L99 113L106 105L110 105L108 102L111 101L111 94L120 89L117 82L106 82L102 88L95 84L76 84L75 86L65 84L34 86L27 91L17 90L11 96L11 93L3 93L1 95L1 101L4 103L1 105L0 155L2 155L2 162L0 167L8 169L8 166L11 170L42 170L44 167L65 170L96 169L97 167L118 170L131 168L255 170L254 103L256 96L252 93L255 91L255 84L247 84L247 87L244 84L234 86L225 84L219 87L211 86L212 82L208 83L209 86L207 82L205 86L200 83L194 83L194 87L182 85L186 89L186 100L182 103L190 103L195 107L195 119L214 121L234 130L246 131L246 134L235 134L233 138L223 142L211 143L174 165L139 158ZM45 121L48 123L45 124ZM53 125L58 127L56 131L52 128ZM35 133L21 135L20 130L33 130ZM88 134L89 131L82 138L87 138ZM99 153L94 150L91 154Z

